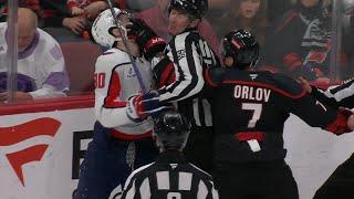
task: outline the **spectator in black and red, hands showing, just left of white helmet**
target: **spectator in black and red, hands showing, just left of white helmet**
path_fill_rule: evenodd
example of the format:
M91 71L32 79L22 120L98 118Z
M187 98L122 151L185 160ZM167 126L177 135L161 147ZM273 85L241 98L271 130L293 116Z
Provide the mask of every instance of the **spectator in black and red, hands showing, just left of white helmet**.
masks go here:
M105 10L105 1L95 1L85 7L85 15L72 15L66 7L66 0L40 0L42 12L42 28L58 39L59 42L84 41L83 32L87 29L87 19L95 17Z

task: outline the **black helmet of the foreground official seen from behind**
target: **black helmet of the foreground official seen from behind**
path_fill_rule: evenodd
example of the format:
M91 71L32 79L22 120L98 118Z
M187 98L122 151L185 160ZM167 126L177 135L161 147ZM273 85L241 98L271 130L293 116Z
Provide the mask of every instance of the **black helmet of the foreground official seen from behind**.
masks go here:
M153 137L162 150L181 150L187 144L190 123L187 118L175 112L168 111L155 121Z

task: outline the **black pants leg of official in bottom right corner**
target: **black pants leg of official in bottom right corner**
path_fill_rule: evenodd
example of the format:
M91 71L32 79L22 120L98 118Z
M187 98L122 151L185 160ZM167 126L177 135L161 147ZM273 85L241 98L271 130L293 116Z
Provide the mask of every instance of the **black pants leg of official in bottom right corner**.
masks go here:
M354 154L340 165L320 187L313 199L354 198Z

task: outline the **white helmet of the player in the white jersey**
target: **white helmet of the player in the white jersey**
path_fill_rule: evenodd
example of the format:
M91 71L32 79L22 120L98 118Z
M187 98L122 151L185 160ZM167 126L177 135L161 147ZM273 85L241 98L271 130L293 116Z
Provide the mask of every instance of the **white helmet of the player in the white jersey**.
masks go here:
M124 24L119 21L119 17L122 14L128 14L128 12L122 11L117 8L114 8L114 12L118 19L118 23ZM91 28L91 33L96 43L106 48L112 48L114 42L122 41L121 36L115 36L112 33L112 31L116 28L117 25L114 22L111 10L106 9L103 12L101 12L95 19L95 21L93 22L93 25ZM119 25L119 28L124 33L124 36L127 38L127 31L125 27Z

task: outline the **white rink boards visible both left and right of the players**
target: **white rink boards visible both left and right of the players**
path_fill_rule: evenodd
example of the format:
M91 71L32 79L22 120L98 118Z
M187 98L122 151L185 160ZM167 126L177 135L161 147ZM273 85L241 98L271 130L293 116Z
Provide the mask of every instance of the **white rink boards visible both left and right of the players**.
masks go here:
M0 198L71 199L92 138L93 98L25 106L0 107ZM354 151L354 134L339 137L296 116L287 121L284 142L300 199Z

